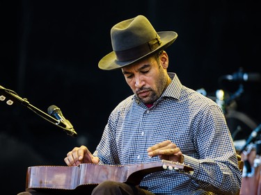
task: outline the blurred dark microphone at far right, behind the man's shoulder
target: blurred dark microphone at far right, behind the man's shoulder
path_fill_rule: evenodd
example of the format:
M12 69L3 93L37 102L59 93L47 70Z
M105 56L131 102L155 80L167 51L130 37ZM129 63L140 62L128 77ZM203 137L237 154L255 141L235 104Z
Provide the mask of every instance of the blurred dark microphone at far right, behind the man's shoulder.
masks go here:
M257 72L246 73L243 72L243 69L239 69L239 71L234 74L226 75L223 78L230 81L259 82L261 80L261 74Z

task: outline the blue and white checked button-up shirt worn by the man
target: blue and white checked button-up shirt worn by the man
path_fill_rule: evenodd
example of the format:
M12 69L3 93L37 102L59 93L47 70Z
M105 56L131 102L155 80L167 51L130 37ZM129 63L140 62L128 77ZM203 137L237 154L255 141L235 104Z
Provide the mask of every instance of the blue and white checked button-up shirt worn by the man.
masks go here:
M230 130L221 108L211 99L184 87L177 75L160 98L147 108L135 94L111 112L94 155L102 164L158 162L148 147L169 139L193 167L188 175L177 171L150 173L140 187L155 194L235 194L242 173Z

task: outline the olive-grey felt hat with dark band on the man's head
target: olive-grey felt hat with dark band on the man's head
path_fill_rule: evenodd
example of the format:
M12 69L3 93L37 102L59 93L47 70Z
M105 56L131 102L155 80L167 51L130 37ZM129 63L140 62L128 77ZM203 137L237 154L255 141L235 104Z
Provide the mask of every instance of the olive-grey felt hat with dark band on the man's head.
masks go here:
M104 70L120 69L166 49L177 38L174 31L155 31L143 15L126 19L111 28L113 51L104 56L98 67Z

